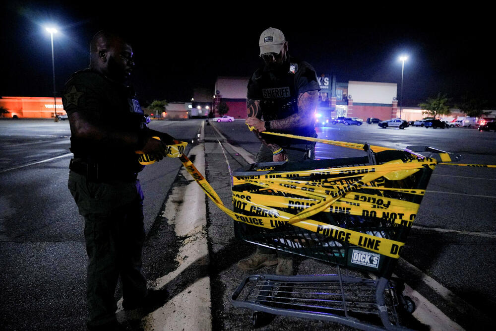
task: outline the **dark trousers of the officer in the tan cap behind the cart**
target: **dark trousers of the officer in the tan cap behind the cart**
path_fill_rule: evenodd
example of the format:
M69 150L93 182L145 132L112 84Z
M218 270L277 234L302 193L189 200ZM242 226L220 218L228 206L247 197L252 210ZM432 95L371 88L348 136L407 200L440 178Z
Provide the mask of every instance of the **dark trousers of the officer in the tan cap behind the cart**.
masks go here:
M300 144L293 144L290 146L282 146L286 155L288 156L288 161L304 161L304 160L314 160L315 159L315 142L307 141ZM264 144L260 145L258 153L256 154L255 162L272 162L272 156L274 154L272 151ZM260 254L278 254L280 258L291 258L291 253L277 252L273 248L268 248L264 246L257 246L256 251Z

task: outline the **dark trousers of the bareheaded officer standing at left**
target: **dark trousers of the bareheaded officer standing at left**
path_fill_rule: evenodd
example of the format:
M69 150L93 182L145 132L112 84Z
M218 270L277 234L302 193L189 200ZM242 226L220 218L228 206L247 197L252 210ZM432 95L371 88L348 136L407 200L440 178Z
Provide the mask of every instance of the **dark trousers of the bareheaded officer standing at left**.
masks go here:
M85 221L88 326L105 325L116 319L119 276L124 301L147 294L141 273L143 194L138 180L94 183L73 171L68 188Z

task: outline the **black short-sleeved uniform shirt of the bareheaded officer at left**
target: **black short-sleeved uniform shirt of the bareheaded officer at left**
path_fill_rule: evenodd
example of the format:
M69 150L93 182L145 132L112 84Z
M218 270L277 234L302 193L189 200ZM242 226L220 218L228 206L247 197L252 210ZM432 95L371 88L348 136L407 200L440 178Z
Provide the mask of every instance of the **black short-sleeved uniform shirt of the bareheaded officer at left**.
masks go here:
M110 130L139 132L146 129L143 111L131 87L112 81L104 75L85 69L77 71L67 81L62 103L67 115L74 112L91 112L99 125ZM71 137L75 158L115 165L138 172L143 167L137 162L134 150L109 146L105 142L92 142Z

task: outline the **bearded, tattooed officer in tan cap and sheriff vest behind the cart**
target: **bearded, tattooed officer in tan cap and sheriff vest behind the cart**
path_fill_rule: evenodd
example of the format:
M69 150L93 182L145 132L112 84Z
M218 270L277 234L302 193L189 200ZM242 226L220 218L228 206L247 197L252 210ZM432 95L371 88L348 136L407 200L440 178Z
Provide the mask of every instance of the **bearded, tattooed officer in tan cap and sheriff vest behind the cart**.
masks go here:
M289 55L288 42L281 30L266 29L258 45L263 64L248 81L246 120L261 141L256 162L314 159L314 142L260 132L317 136L315 110L320 88L315 70L307 62ZM293 259L289 253L277 254L276 250L262 246L257 246L256 253L241 260L238 266L255 270L276 264L277 274L293 274Z

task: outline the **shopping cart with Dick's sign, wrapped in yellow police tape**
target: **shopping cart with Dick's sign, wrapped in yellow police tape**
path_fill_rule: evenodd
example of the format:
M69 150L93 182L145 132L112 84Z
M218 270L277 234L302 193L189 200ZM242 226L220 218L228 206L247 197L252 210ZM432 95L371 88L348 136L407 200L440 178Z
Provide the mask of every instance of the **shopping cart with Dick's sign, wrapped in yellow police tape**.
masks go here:
M237 238L337 266L336 274L248 276L232 303L253 310L253 325L273 314L405 330L400 313L411 313L414 303L392 273L436 165L434 152L442 151L412 148L429 150L427 158L412 149L364 147L364 157L256 163L233 173L234 212L245 215L234 222ZM290 221L276 220L283 216Z

